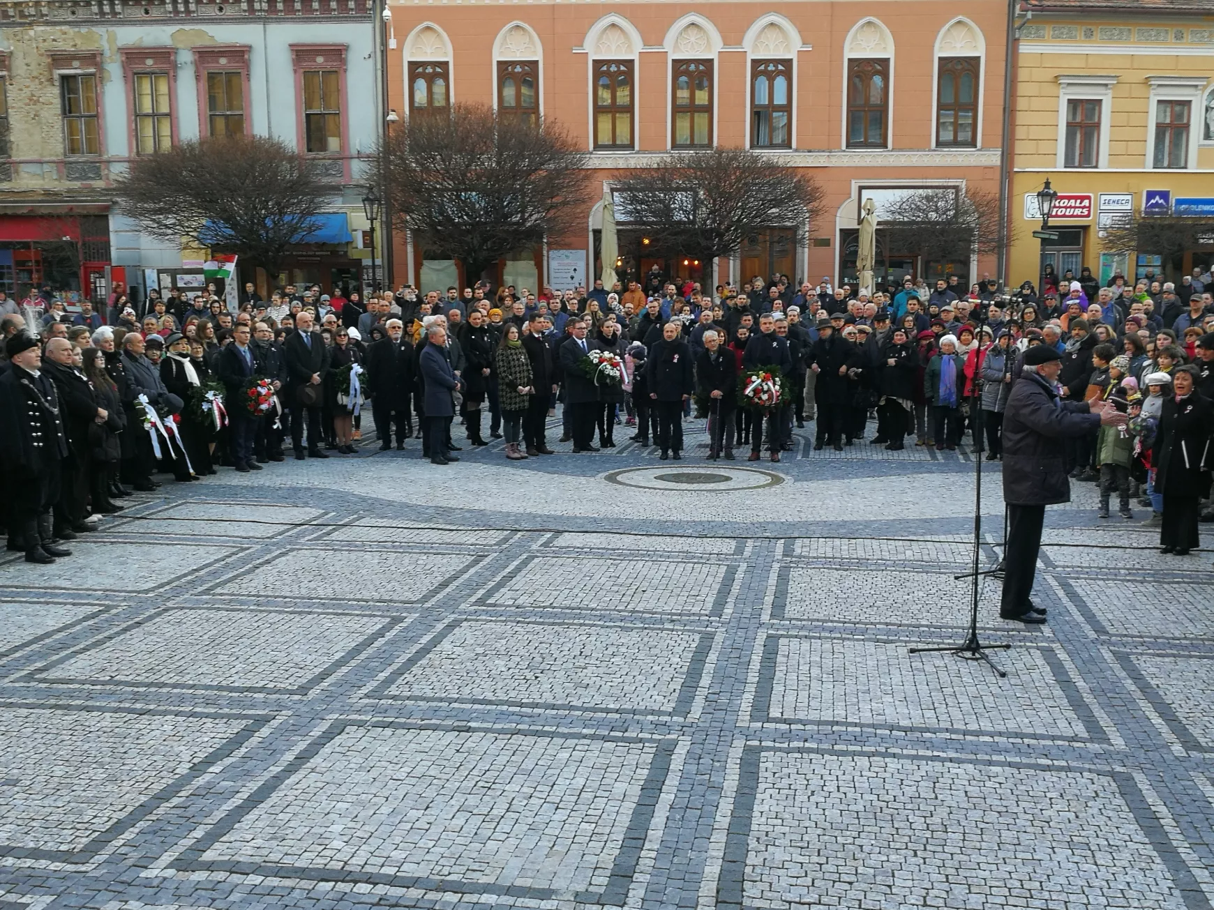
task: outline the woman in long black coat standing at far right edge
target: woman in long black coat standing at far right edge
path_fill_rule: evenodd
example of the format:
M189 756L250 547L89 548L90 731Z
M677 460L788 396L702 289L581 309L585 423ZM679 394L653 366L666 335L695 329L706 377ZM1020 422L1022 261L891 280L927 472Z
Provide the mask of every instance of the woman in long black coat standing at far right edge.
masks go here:
M1195 391L1197 369L1178 366L1173 371L1175 396L1163 400L1159 432L1151 451L1155 490L1163 494L1163 527L1159 546L1164 553L1187 556L1199 546L1198 507L1210 489L1210 434L1214 433L1214 404Z

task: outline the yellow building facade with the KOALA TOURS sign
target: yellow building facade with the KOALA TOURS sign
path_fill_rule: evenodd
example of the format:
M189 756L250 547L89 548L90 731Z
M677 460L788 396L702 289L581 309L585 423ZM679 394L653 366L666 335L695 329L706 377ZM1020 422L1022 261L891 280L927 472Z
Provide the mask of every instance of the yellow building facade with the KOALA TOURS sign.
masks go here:
M1046 263L1088 266L1102 284L1214 265L1214 233L1169 256L1116 249L1107 231L1145 214L1214 223L1214 4L1029 0L1014 64L1009 281L1039 288ZM1059 237L1042 240L1046 178Z

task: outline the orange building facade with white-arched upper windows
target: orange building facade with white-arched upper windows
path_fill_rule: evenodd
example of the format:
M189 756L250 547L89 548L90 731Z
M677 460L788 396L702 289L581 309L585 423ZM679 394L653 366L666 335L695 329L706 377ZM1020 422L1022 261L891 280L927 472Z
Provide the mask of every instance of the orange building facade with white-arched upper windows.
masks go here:
M910 190L999 192L1004 2L408 0L387 8L387 107L402 120L489 103L557 120L590 153L579 228L499 263L505 284L589 285L601 273L605 186L670 150L770 153L812 174L823 215L800 232L804 243L793 226L772 224L732 260L699 263L647 257L646 238L617 205L622 279L657 263L671 277L719 283L777 272L812 284L855 280L864 199L880 218L883 204ZM886 248L879 231L879 281L995 273L993 257L929 263ZM393 262L396 284L422 290L476 278L401 234Z

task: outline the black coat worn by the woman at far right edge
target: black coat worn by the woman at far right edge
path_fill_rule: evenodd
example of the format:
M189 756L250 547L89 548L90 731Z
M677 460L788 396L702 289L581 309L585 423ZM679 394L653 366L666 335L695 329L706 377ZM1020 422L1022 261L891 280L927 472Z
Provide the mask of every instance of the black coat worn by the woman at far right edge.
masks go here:
M1209 493L1214 468L1214 404L1191 392L1179 403L1163 399L1159 432L1151 450L1155 491L1164 496L1199 497Z

